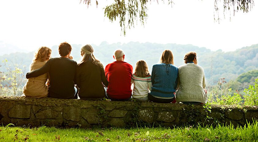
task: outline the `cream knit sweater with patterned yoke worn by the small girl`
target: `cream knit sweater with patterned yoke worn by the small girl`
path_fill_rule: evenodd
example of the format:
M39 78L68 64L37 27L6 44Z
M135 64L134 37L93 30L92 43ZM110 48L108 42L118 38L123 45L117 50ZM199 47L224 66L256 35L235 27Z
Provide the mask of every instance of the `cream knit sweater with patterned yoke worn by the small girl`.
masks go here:
M149 90L151 91L152 87L151 75L142 78L133 74L131 83L133 83L133 98L148 98Z

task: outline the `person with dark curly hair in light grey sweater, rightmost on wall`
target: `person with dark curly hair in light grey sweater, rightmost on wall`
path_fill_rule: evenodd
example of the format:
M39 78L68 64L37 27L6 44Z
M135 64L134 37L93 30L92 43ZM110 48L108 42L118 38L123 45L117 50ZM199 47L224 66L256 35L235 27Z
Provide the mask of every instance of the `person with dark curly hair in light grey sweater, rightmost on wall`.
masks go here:
M204 70L201 66L197 65L196 53L186 53L184 60L185 64L178 67L177 103L207 103L208 97L205 90Z

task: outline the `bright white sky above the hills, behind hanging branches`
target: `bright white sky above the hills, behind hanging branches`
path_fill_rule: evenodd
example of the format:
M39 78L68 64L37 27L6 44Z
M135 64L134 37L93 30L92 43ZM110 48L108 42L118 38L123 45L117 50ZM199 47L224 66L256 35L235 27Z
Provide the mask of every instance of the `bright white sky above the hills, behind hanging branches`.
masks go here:
M214 0L174 0L172 8L159 1L149 5L145 26L127 29L124 37L118 21L104 17L103 8L112 0L99 0L98 8L94 0L89 8L79 0L0 0L0 41L28 51L64 41L193 44L223 51L258 44L258 5L249 13L232 13L231 21L221 16L219 24L214 22Z

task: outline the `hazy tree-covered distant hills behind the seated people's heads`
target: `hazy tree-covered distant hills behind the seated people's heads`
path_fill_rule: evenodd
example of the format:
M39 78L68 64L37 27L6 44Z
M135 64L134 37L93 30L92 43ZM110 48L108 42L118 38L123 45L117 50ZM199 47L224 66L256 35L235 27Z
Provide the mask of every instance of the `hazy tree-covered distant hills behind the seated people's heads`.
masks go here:
M77 62L80 60L80 47L82 45L73 44L71 55ZM149 70L153 64L158 63L161 53L165 49L170 49L174 54L174 64L180 66L184 64L184 55L189 51L197 53L198 65L204 68L207 85L214 85L219 78L226 78L226 81L236 79L241 73L258 69L258 44L249 47L243 47L233 52L222 52L222 50L211 51L204 47L179 44L157 44L157 43L139 43L129 42L127 44L102 42L99 46L92 45L94 55L104 66L113 62L113 53L115 49L123 49L125 52L125 61L132 64L133 67L137 60L143 59L147 62ZM52 57L58 57L58 46L51 47ZM35 49L37 50L37 49ZM28 67L32 62L34 52L30 53L11 53L0 56L0 61L7 59L21 66ZM2 64L2 63L0 63ZM3 67L0 67L4 70Z

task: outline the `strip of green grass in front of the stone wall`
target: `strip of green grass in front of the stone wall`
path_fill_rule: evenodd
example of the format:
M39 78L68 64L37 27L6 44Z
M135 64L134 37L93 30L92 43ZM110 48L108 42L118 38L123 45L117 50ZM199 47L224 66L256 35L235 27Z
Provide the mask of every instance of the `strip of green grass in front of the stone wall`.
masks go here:
M257 142L258 121L245 127L221 126L189 126L183 128L105 128L105 129L59 129L54 127L0 127L1 142L38 142L38 141L150 141L150 142ZM26 138L28 138L26 140Z

